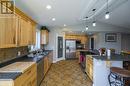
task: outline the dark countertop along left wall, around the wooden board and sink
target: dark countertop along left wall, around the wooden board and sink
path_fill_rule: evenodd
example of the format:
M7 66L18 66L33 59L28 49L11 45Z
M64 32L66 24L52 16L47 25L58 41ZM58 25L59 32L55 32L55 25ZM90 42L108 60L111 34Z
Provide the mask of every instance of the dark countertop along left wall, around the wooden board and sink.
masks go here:
M25 56L22 56L20 58L16 58L16 59L13 59L9 62L5 62L5 63L2 63L0 64L0 67L4 67L6 65L9 65L11 63L14 63L14 62L19 62L19 61L28 61L28 62L36 62L38 63L39 61L41 61L42 59L44 59L44 57L46 57L50 52L52 52L52 50L45 50L44 52L48 52L48 53L45 53L44 55L41 55L41 58L37 58L36 57L28 57L27 55ZM19 77L22 73L18 73L18 72L13 72L13 73L0 73L0 80L15 80L17 77Z

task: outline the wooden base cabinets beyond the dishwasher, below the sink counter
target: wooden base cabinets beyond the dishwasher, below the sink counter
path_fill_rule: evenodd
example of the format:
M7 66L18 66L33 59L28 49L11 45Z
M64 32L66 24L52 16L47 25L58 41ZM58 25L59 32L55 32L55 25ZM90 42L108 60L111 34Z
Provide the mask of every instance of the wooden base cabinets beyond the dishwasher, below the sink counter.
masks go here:
M51 67L53 61L53 52L50 52L45 58L44 58L44 76L48 72L49 68Z

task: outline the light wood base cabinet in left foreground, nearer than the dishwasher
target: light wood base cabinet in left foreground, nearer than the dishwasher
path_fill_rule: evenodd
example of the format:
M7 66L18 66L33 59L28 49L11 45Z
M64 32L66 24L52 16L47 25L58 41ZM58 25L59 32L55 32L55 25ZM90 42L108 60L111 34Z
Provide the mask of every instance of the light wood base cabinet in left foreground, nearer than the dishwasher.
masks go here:
M15 80L0 81L0 86L36 86L36 71L36 64L34 64Z

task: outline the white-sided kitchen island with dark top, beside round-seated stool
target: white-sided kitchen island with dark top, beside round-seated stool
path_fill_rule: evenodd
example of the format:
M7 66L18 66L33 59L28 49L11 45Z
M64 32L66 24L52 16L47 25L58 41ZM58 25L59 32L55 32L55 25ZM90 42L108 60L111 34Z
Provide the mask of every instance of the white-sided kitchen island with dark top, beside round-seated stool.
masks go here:
M86 55L86 73L93 86L109 86L110 67L123 68L123 61L130 61L129 55L112 54L110 57Z

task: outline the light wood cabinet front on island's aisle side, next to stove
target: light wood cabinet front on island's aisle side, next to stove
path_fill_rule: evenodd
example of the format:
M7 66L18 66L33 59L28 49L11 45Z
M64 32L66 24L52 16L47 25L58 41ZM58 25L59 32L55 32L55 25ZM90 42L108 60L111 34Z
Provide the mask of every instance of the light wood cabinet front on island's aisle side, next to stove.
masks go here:
M89 56L86 57L86 73L93 80L93 59Z

